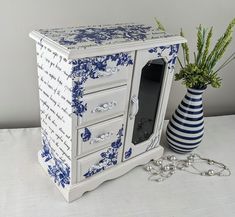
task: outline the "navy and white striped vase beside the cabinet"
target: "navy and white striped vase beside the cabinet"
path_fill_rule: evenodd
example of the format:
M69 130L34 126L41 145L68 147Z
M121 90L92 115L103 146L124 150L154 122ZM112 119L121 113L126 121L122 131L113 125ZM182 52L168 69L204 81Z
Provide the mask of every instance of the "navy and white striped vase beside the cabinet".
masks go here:
M167 125L167 142L177 153L197 148L204 133L202 94L204 89L188 88Z

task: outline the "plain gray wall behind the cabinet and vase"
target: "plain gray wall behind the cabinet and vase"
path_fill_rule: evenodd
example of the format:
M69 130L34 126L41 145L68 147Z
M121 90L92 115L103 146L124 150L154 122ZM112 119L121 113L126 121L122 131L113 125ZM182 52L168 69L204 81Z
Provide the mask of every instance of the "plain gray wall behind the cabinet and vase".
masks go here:
M35 44L28 37L31 30L120 22L154 24L157 17L168 32L178 33L183 27L191 47L196 26L213 25L214 39L218 39L235 16L234 9L234 0L1 0L0 128L40 126ZM226 56L234 48L235 39ZM235 114L234 68L235 61L221 72L222 87L208 88L204 94L206 116ZM184 93L184 86L174 81L166 118Z

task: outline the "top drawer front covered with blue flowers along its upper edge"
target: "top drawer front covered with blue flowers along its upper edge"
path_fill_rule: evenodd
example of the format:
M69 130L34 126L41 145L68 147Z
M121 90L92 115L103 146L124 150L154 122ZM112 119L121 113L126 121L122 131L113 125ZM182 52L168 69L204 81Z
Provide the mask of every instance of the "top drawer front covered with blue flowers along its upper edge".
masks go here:
M126 84L131 78L134 52L74 60L75 80L82 79L84 94ZM77 79L76 79L77 78Z

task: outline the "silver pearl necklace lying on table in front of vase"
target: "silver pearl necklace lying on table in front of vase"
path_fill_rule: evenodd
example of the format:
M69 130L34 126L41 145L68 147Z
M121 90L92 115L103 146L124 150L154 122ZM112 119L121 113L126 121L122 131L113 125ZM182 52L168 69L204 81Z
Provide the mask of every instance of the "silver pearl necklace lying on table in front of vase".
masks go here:
M202 170L199 164L209 165L210 168ZM212 168L213 167L213 168ZM174 155L163 156L145 165L150 173L149 180L162 182L170 178L177 170L201 176L230 176L230 169L223 163L203 158L199 154L190 154L186 159L177 159Z

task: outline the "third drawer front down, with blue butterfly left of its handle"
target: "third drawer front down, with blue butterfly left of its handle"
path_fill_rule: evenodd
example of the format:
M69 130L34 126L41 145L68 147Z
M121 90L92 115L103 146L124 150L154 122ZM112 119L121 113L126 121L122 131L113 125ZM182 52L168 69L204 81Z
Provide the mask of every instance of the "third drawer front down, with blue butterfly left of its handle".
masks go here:
M78 155L94 152L108 146L117 137L122 127L123 116L78 130Z

